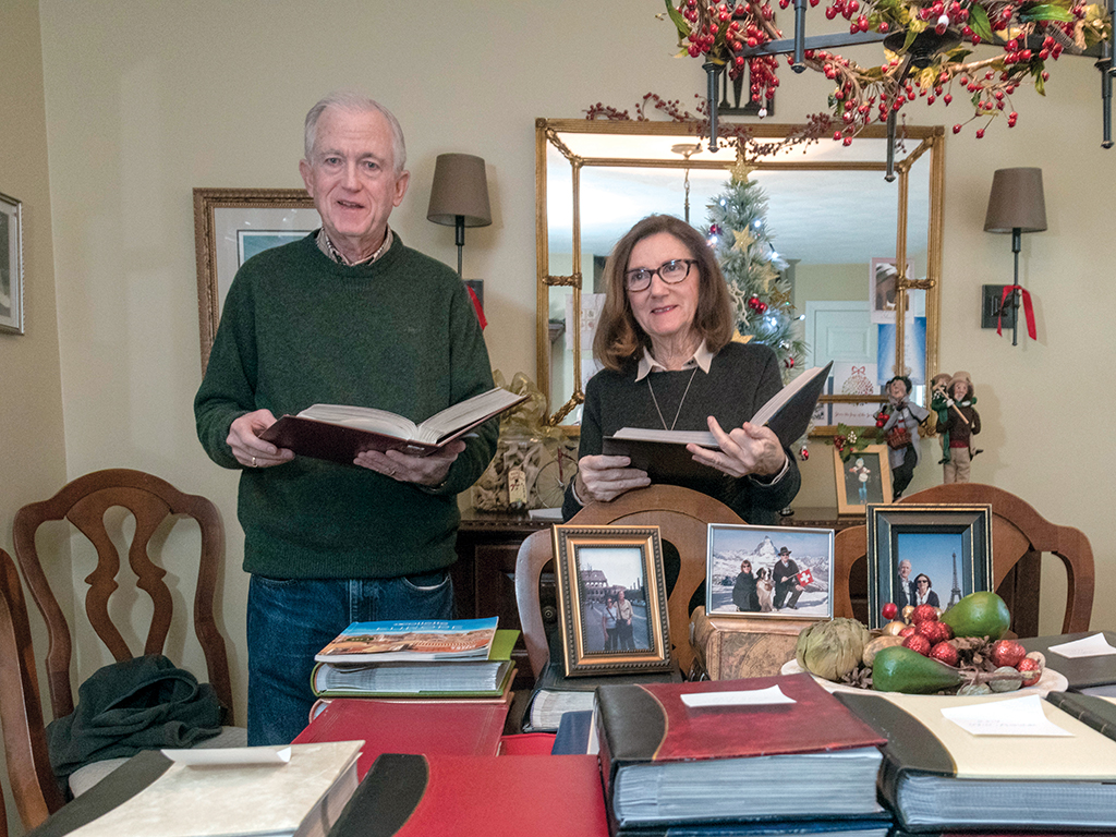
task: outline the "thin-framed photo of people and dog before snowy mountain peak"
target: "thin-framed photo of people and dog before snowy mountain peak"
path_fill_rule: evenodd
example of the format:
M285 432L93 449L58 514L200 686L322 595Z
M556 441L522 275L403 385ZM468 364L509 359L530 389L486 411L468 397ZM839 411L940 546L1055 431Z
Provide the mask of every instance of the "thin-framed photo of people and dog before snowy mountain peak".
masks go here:
M709 525L705 613L830 619L834 530Z

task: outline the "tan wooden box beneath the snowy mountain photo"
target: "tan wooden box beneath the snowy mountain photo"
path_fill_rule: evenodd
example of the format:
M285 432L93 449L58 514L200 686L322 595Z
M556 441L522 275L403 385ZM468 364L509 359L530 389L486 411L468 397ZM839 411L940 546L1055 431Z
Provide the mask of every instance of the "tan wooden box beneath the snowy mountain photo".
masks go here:
M783 663L795 657L798 635L812 619L706 616L699 607L690 619L690 644L695 668L691 680L737 680L779 674Z

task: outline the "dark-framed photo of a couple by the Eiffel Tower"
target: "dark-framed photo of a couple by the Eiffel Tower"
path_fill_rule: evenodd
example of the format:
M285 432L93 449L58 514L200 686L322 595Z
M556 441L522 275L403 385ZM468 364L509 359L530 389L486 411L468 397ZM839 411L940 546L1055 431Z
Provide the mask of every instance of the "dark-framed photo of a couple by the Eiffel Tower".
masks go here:
M992 507L869 506L868 627L894 602L943 610L977 590L991 590Z

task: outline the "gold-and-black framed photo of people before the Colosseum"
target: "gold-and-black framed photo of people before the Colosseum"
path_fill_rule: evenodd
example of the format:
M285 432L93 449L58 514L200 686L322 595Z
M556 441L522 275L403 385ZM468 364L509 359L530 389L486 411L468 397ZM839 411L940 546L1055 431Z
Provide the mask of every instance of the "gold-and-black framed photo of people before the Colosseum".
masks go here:
M556 526L567 676L668 671L670 629L657 526Z

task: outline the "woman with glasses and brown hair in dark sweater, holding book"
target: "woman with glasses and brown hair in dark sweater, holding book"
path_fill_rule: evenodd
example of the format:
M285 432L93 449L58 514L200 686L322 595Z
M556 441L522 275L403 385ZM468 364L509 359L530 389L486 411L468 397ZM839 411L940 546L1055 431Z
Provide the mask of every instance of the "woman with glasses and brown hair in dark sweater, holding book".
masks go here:
M607 291L593 350L604 367L586 385L578 473L568 520L651 484L626 456L600 453L622 427L710 431L720 450L686 449L708 475L686 488L721 500L750 523L773 523L801 478L767 427L748 424L782 387L775 353L734 343L729 291L704 237L671 215L648 215L605 264Z

